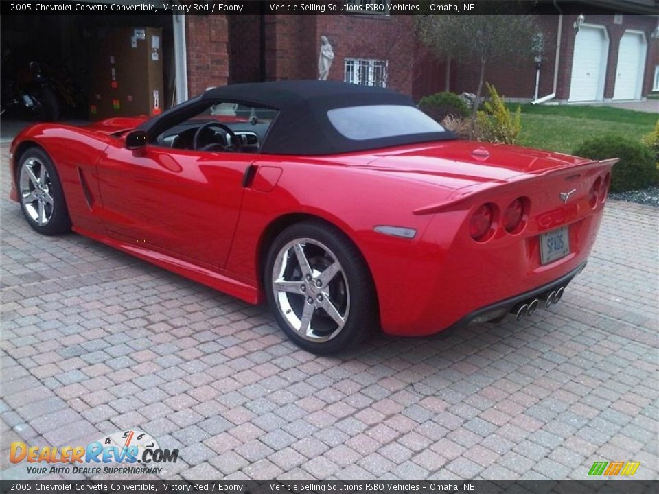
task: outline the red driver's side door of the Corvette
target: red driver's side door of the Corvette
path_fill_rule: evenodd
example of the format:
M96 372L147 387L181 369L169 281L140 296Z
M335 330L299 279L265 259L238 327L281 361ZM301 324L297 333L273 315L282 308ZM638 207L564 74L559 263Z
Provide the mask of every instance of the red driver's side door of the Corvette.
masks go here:
M224 266L253 156L111 145L97 165L108 235Z

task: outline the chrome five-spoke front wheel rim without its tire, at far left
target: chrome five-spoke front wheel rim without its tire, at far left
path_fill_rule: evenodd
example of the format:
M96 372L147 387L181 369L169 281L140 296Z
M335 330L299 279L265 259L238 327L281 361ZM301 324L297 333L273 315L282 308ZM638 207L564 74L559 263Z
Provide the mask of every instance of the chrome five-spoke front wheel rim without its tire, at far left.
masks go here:
M19 187L25 213L36 225L47 225L53 217L55 202L51 177L42 161L30 158L23 162Z

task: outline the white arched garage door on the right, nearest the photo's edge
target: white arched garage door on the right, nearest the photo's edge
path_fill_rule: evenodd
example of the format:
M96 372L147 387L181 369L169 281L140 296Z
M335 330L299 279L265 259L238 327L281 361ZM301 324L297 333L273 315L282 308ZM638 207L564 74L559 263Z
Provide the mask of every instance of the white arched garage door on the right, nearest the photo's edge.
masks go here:
M625 31L620 38L616 87L613 99L640 99L645 69L645 36L639 32Z

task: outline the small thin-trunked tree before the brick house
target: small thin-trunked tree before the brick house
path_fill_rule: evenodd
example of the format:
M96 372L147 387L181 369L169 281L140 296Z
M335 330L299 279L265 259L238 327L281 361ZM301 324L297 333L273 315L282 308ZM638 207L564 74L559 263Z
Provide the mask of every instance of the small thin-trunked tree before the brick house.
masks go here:
M506 2L507 14L511 14ZM496 5L496 4L495 4ZM494 7L496 8L496 7ZM520 4L520 8L522 8ZM492 12L496 14L497 12ZM481 102L485 67L513 57L529 58L537 44L535 16L518 15L429 15L417 18L417 34L424 45L440 56L478 64L476 104L472 110L472 134Z

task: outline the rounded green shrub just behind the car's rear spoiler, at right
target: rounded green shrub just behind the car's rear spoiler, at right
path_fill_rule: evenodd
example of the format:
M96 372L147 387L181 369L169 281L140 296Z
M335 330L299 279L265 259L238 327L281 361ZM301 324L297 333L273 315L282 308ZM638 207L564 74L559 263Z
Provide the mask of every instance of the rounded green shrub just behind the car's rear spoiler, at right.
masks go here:
M653 152L643 143L627 137L609 134L588 139L573 154L597 160L620 158L611 174L612 192L645 189L658 178Z

